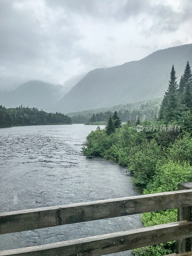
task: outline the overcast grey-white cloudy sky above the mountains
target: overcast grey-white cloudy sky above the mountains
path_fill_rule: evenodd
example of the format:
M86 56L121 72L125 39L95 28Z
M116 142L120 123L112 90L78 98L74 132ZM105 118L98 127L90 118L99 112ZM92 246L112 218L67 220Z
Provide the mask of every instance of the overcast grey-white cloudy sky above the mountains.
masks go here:
M0 0L0 89L192 43L191 0Z

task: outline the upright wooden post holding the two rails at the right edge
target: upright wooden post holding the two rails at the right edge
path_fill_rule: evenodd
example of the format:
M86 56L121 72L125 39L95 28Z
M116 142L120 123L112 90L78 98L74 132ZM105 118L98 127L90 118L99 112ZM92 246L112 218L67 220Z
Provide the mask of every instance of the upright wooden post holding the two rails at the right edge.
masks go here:
M192 189L192 182L180 182L178 190ZM185 202L183 202L185 204ZM178 208L177 220L192 219L192 206ZM192 236L192 230L191 230ZM178 240L178 253L190 252L192 247L192 237Z

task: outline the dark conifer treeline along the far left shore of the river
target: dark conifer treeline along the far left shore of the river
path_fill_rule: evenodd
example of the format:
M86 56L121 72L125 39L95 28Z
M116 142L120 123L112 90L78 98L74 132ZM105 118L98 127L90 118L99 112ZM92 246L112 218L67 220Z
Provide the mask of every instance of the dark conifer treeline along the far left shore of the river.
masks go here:
M58 112L46 113L43 110L25 108L22 105L17 108L0 106L0 128L41 124L71 124L71 118Z

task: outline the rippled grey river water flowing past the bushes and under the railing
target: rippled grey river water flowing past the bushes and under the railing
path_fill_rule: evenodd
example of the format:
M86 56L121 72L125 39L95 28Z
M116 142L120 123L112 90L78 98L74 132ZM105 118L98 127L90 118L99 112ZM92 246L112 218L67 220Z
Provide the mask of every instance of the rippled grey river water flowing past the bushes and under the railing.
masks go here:
M138 195L125 168L83 156L81 144L95 129L84 124L0 129L0 212ZM140 215L132 215L6 234L0 250L139 227Z

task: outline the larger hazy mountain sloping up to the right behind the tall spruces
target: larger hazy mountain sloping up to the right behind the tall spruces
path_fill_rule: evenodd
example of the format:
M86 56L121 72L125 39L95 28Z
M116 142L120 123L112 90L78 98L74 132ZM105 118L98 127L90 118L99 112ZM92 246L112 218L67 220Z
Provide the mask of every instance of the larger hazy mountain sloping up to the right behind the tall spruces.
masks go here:
M192 44L158 50L120 66L94 69L56 103L55 110L68 113L163 96L172 64L179 79L187 60L192 64Z

